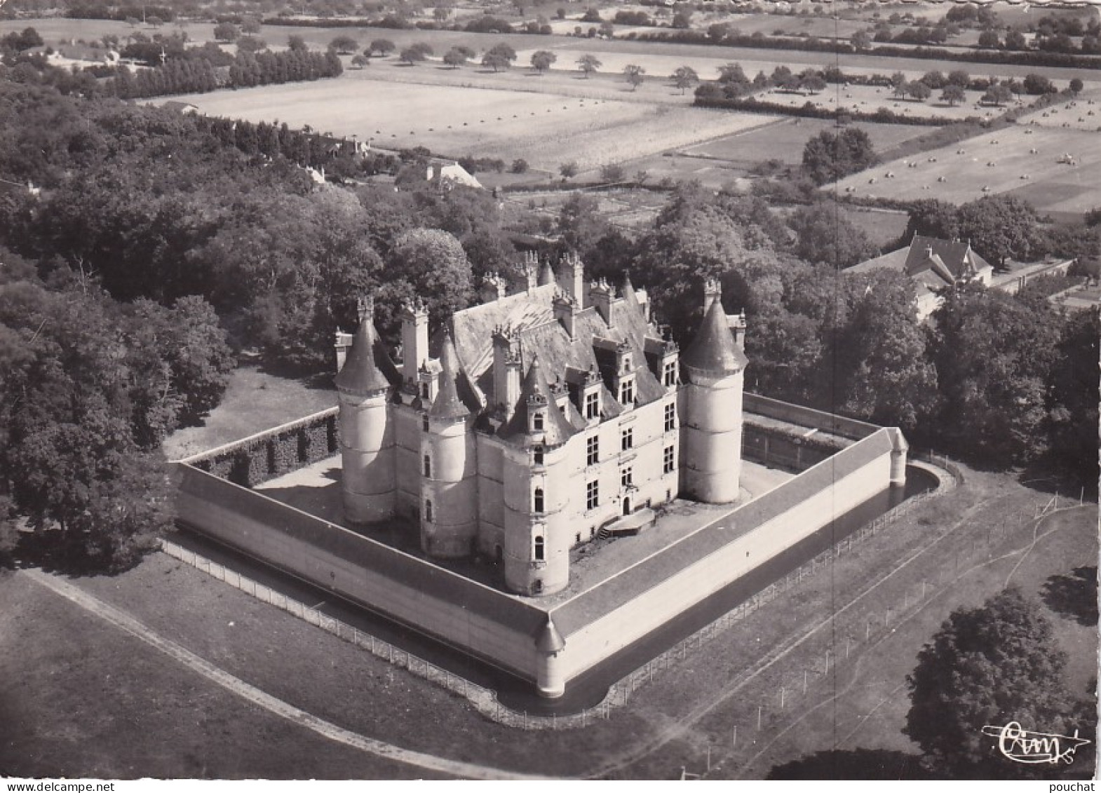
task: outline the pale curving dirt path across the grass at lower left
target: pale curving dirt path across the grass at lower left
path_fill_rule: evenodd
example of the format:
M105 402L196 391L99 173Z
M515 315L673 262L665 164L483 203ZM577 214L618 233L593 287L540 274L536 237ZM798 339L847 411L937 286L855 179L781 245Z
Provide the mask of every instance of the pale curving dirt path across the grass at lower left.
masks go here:
M37 569L23 569L20 571L20 575L31 578L41 586L51 589L58 596L76 604L80 608L96 615L102 620L110 622L130 633L131 636L141 639L145 643L156 648L161 652L170 655L179 663L184 664L194 672L199 673L207 680L217 683L221 687L237 694L243 699L247 699L260 707L269 710L277 716L282 716L290 721L293 721L306 729L313 730L314 732L329 738L330 740L338 741L346 746L359 749L361 751L374 754L375 757L384 758L386 760L392 760L395 762L405 763L407 765L413 765L415 768L425 769L428 771L434 771L438 773L449 774L453 776L459 776L465 779L477 779L477 780L534 780L534 779L545 779L542 776L528 776L524 774L512 773L504 771L502 769L492 768L489 765L479 765L476 763L460 762L456 760L447 760L445 758L434 757L432 754L425 754L423 752L411 751L408 749L402 749L395 747L392 743L384 743L383 741L374 740L372 738L367 738L357 732L346 730L341 727L336 726L330 721L320 719L312 714L296 708L282 699L266 694L255 686L249 685L239 677L236 677L225 670L215 666L214 664L205 661L189 650L181 647L179 644L165 639L162 636L150 630L142 622L138 621L133 617L127 615L126 612L109 606L102 600L81 591L72 584L52 576L50 574L43 573Z

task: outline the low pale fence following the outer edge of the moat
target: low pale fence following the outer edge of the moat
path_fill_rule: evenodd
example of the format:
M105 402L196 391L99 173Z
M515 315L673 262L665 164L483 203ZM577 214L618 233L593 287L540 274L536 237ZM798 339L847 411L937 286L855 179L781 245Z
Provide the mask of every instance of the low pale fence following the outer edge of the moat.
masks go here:
M923 457L923 459L926 459ZM930 463L941 467L952 474L957 482L962 481L962 474L956 466L951 465L945 457L928 457ZM955 470L953 470L955 469ZM950 485L949 485L950 486ZM611 708L626 705L631 696L642 685L654 680L661 673L683 661L689 653L699 650L720 633L729 629L737 622L744 620L761 607L772 602L781 595L798 587L805 579L814 576L818 571L829 566L832 561L851 553L869 539L876 536L887 528L896 523L901 518L907 515L924 501L934 498L945 491L945 487L936 490L913 496L894 508L887 510L859 530L848 534L837 543L817 554L811 560L805 562L796 569L789 572L761 591L739 604L735 608L722 615L715 621L688 636L682 641L671 647L665 652L651 659L631 673L614 683L608 694L599 705L582 710L577 714L566 716L544 716L527 714L524 711L508 708L498 700L497 693L468 681L461 675L442 669L432 662L410 653L407 650L395 647L378 637L361 631L341 620L330 617L316 608L307 606L294 598L287 597L271 587L241 575L237 571L212 562L211 560L185 548L176 543L162 540L163 551L186 564L207 573L218 580L252 595L257 599L270 604L287 613L298 617L306 622L314 624L321 630L351 642L358 648L367 650L372 655L380 658L393 665L404 669L410 673L435 683L447 691L468 699L483 716L500 724L519 729L573 729L585 727L598 719L608 719ZM827 670L828 671L828 670ZM825 672L822 673L825 674ZM808 683L809 681L805 681ZM782 696L783 699L783 696Z

